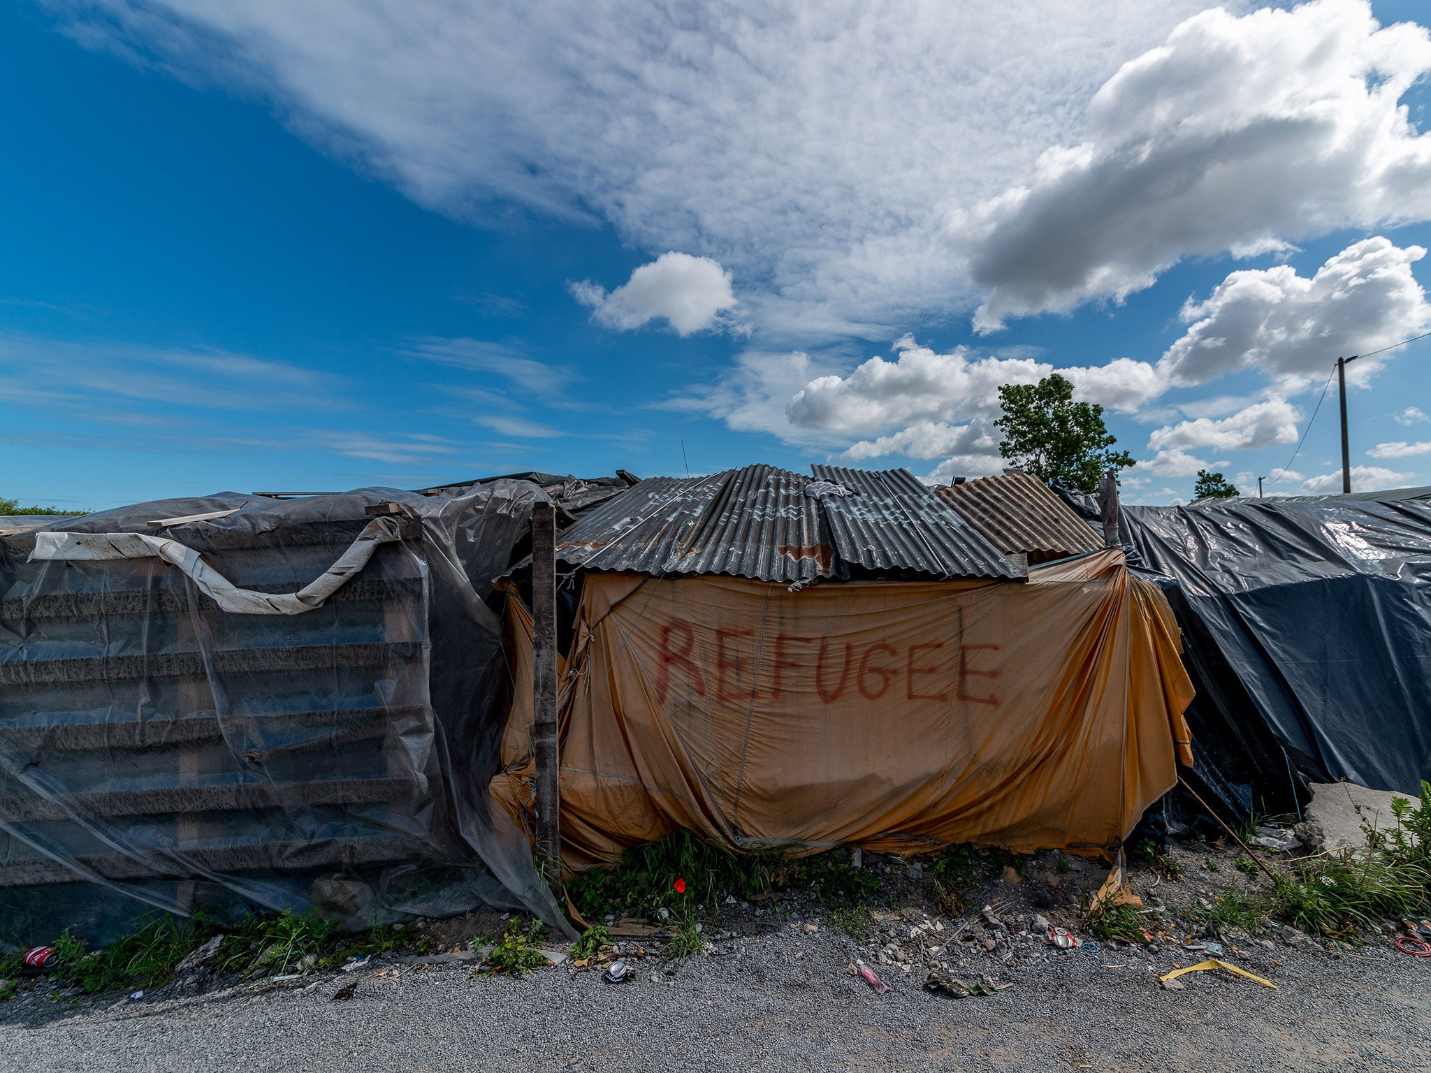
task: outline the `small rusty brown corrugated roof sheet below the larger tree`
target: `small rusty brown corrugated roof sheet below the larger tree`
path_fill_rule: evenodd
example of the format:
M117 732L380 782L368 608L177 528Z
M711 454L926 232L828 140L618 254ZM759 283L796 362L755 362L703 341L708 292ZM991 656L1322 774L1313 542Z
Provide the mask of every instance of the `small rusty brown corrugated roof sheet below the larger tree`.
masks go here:
M1005 554L1022 551L1037 562L1103 547L1088 522L1029 474L982 476L934 491Z

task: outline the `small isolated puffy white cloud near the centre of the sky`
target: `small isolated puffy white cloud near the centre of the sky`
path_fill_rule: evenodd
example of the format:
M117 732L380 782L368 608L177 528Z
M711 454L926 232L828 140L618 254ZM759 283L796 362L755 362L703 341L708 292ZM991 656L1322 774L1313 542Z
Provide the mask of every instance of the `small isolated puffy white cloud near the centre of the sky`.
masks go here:
M591 306L591 319L627 332L664 319L677 335L691 335L728 323L736 306L731 275L711 258L668 250L631 272L631 279L607 292L590 280L571 285L578 302Z

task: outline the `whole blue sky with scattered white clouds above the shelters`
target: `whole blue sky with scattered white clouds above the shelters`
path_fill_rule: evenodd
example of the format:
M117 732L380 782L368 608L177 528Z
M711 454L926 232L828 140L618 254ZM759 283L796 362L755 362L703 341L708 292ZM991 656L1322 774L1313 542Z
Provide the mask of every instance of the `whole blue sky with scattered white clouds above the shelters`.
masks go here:
M1418 17L0 6L0 496L946 482L1055 369L1125 499L1339 491L1335 359L1431 332ZM1431 339L1348 376L1355 489L1431 484Z

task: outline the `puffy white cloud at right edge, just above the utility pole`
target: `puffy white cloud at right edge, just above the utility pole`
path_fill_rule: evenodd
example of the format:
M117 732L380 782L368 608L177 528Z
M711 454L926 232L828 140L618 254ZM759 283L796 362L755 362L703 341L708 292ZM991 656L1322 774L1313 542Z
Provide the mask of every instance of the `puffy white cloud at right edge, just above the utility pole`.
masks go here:
M1431 182L1431 179L1428 179ZM1175 385L1206 383L1256 368L1286 391L1325 381L1334 359L1378 351L1431 326L1431 305L1411 273L1421 246L1355 242L1311 278L1286 266L1234 272L1205 302L1182 308L1188 330L1159 363ZM1365 381L1379 358L1347 366Z

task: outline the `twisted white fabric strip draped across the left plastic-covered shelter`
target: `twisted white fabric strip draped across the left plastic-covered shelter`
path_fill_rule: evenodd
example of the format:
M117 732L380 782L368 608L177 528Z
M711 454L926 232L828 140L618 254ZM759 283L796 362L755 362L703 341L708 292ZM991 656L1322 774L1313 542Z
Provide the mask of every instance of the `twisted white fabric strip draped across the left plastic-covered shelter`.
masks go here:
M236 615L301 615L322 607L353 574L368 565L379 544L401 539L396 518L373 518L338 561L298 592L270 594L239 588L206 564L193 548L167 536L143 532L40 532L30 559L103 562L107 559L160 558L187 574L213 601Z

